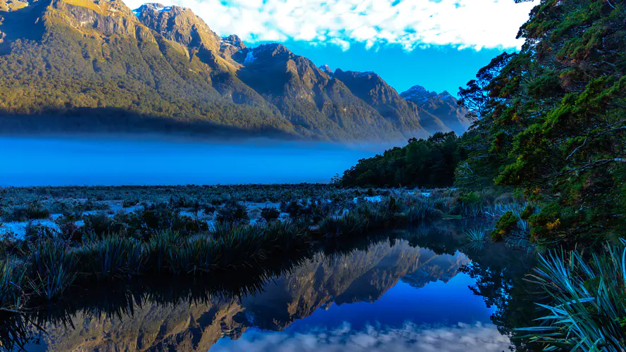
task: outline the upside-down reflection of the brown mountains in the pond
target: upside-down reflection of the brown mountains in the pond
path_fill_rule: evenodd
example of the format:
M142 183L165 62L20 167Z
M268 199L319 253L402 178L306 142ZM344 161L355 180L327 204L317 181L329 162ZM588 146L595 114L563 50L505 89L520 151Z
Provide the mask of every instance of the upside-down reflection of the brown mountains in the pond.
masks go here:
M376 301L407 274L418 274L411 278L416 287L447 282L468 263L461 253L437 255L406 241L318 255L240 300L144 302L121 315L80 311L71 325L46 326L44 344L48 351L208 351L218 339L239 339L249 327L282 330L319 308Z

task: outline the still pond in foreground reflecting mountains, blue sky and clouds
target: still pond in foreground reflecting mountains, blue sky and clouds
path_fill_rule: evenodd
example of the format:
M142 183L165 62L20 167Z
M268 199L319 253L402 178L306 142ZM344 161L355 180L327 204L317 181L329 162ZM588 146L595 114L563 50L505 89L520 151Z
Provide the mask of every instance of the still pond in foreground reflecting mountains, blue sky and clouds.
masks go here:
M356 249L346 246L332 254L324 249L288 265L287 270L275 270L282 274L269 279L253 275L256 278L249 282L217 286L215 282L229 280L91 289L67 300L65 306L36 312L32 322L45 333L36 334L37 339L25 347L32 351L503 351L510 346L509 337L490 321L492 315L498 316L494 320L498 328L510 332L502 327L511 320L501 309L507 302L496 301L495 291L483 298L487 281L494 278L482 279L477 268L489 265L483 267L476 260L497 258L504 263L503 258L528 256L496 245L480 253L463 253L463 234L452 222L387 235ZM428 246L430 241L434 250ZM492 308L496 304L503 306L496 310ZM35 331L33 325L27 328Z

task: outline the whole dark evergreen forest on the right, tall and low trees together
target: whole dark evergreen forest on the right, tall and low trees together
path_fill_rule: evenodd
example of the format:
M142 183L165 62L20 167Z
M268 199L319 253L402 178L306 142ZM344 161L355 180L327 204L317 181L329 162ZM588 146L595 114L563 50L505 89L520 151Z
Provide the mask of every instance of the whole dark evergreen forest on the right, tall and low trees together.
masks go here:
M516 187L532 203L534 240L623 236L624 18L623 1L542 0L520 28L522 49L493 58L460 88L475 118L468 132L361 160L344 186Z

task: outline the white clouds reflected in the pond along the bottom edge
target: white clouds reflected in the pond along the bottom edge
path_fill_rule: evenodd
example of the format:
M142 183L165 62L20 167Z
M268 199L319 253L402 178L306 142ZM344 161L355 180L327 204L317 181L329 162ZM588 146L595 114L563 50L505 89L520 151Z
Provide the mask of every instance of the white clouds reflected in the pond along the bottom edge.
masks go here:
M366 327L353 331L347 323L334 330L314 329L306 334L250 330L236 341L219 341L211 352L500 352L511 341L495 325L461 324L401 328Z

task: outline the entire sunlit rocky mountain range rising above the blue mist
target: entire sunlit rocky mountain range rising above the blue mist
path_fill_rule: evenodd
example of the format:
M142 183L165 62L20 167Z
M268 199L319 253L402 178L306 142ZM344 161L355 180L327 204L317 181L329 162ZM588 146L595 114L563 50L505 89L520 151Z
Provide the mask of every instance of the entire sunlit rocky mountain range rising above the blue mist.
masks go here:
M447 92L399 94L282 44L220 37L188 8L0 0L0 132L188 132L398 141L462 133Z

